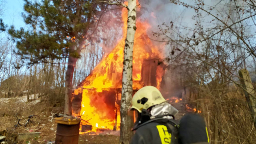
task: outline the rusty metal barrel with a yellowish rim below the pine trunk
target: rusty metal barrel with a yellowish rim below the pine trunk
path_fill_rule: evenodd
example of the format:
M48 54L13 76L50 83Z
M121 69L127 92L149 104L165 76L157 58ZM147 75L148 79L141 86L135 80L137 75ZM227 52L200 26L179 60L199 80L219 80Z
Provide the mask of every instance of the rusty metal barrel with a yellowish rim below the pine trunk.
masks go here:
M79 119L58 117L55 118L55 122L57 123L56 144L78 144Z

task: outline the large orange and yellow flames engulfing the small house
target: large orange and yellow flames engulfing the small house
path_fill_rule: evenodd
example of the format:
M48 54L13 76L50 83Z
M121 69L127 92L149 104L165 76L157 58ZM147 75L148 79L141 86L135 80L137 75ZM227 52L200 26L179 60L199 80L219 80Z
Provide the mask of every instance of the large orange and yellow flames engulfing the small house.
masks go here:
M122 88L122 72L124 59L124 45L127 29L127 10L122 10L123 38L112 52L104 57L91 74L82 82L82 87L74 90L74 95L82 93L81 118L92 125L92 131L97 129L119 129L120 126L120 89ZM150 25L137 19L137 30L133 47L133 89L143 86L141 70L144 59L160 58L161 54L147 36ZM164 70L157 68L157 87L160 88ZM111 104L110 104L111 103ZM73 114L75 115L75 114Z

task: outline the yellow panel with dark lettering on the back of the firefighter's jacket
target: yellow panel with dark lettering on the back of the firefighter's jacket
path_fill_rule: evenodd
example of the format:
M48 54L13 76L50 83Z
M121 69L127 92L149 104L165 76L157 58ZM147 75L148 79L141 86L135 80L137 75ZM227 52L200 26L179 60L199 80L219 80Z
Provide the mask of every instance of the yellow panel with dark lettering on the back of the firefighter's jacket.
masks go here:
M161 139L161 143L162 144L171 144L171 133L168 132L168 129L166 126L164 125L158 125L156 126L160 139Z

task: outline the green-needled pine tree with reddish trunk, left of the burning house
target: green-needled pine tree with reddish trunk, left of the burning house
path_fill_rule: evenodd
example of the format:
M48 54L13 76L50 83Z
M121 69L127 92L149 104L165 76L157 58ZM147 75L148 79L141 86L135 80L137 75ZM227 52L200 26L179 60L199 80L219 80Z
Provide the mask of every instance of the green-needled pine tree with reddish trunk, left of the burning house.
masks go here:
M80 52L97 26L97 15L104 9L98 0L24 0L25 23L31 28L8 30L16 42L16 54L28 64L68 59L65 114L71 114L73 72Z

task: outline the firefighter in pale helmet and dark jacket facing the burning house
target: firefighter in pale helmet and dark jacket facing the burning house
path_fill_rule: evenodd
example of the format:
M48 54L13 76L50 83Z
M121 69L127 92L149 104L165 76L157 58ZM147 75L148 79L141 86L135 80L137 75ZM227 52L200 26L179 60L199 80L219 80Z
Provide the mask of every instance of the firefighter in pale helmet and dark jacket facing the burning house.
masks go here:
M131 110L137 112L131 144L176 144L179 112L153 86L139 89L132 98ZM175 128L176 127L176 128Z

